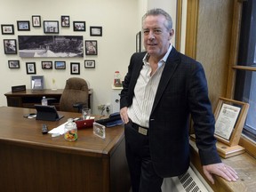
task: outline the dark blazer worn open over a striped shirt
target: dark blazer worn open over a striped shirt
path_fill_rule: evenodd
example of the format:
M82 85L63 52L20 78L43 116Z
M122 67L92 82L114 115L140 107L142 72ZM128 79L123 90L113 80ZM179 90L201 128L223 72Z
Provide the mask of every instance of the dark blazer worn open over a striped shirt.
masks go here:
M124 77L120 108L132 105L134 86L145 54L139 52L132 55ZM215 120L208 98L204 68L196 60L172 47L149 118L150 154L159 176L177 176L188 170L189 115L194 122L201 163L220 163L213 136Z

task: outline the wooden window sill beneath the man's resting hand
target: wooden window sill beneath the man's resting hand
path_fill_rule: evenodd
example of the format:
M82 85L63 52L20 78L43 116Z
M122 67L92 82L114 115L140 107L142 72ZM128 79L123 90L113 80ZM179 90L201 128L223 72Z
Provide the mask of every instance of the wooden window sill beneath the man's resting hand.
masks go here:
M256 186L256 160L248 153L239 156L232 156L226 159L221 159L224 164L233 167L239 177L236 182L228 182L218 176L215 176L215 184L212 185L204 176L203 169L200 163L196 142L190 140L191 163L194 164L198 172L204 177L204 180L211 186L212 190L220 192L241 192L255 191Z

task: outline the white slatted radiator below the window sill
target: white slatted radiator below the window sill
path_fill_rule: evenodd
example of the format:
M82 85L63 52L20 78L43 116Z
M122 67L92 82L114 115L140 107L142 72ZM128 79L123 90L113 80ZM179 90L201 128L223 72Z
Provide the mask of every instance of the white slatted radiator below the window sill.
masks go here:
M189 167L188 172L178 177L165 178L162 192L212 192L212 188Z

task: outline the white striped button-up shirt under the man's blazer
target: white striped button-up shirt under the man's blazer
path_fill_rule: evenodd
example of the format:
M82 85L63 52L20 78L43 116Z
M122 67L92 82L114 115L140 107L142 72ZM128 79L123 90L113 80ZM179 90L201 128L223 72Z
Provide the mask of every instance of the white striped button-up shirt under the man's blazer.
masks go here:
M140 70L140 76L134 87L134 96L132 106L128 108L128 116L135 124L143 127L149 127L149 116L156 97L156 91L160 82L165 62L172 51L172 44L165 53L162 60L159 60L158 67L152 76L150 76L151 68L148 63L148 53L143 58L143 67Z

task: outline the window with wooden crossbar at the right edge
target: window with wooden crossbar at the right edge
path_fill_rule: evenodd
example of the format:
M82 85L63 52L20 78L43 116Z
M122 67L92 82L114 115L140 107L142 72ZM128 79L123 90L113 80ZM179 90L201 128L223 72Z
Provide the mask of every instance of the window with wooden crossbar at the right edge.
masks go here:
M235 100L250 108L243 133L256 141L256 1L243 2L241 34L236 70Z

